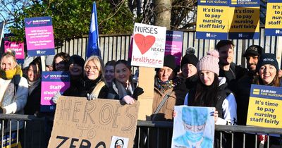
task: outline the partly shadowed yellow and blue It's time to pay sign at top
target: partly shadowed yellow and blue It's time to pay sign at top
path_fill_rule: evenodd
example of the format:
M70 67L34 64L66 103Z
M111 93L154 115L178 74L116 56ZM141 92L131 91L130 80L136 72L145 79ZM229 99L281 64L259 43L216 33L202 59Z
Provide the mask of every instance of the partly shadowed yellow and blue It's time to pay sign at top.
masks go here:
M259 39L259 0L231 0L228 39Z

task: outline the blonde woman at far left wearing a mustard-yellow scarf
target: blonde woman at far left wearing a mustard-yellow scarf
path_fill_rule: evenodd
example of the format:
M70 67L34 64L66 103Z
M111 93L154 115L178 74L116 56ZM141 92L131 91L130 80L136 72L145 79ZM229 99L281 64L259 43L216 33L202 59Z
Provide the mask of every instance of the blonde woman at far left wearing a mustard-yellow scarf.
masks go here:
M27 95L27 80L23 78L23 72L16 62L15 52L7 51L1 56L0 113L23 114L23 109L27 102ZM11 143L15 142L18 136L16 130L22 127L23 121L20 121L18 125L17 121L12 120L11 126L7 124L7 127L2 129L4 130L4 137L1 137L2 142L7 140L6 143L10 143L8 140L10 137L12 139ZM12 131L11 135L8 132L9 130Z

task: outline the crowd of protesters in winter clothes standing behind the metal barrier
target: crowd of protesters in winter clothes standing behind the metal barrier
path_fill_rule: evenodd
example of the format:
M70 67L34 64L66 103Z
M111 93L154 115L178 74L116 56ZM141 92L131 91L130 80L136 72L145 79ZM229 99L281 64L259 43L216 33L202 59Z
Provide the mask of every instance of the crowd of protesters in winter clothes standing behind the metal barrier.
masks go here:
M173 112L173 107L188 105L215 107L215 124L246 125L251 85L282 87L282 72L276 56L264 54L264 49L258 45L248 47L243 55L247 68L237 66L233 63L234 47L233 42L222 40L216 44L216 50L209 51L200 60L195 56L195 49L188 48L180 67L176 66L174 56L164 56L164 66L155 70L152 121L173 121L173 116L177 114ZM61 95L86 97L89 100L118 99L134 104L143 93L138 82L133 80L130 63L125 60L108 61L104 66L99 56L90 56L85 61L81 56L61 52L47 56L45 63L47 71L68 71L71 75L71 87L63 94L57 92L51 99L54 104ZM41 73L39 57L26 58L21 70L13 52L3 54L0 113L39 115ZM12 127L12 130L15 129ZM159 140L159 145L166 147L163 141L171 141L171 135L158 131L160 133L164 136L160 137L163 139ZM151 134L156 132L152 131ZM214 147L220 147L219 137L216 133ZM237 137L241 140L239 137L242 135ZM249 145L246 147L254 147L255 135L248 134L246 138L254 141L247 142ZM267 136L259 135L259 140L264 142ZM228 144L230 142L226 136L223 147L230 147ZM274 147L280 141L271 138L270 144Z

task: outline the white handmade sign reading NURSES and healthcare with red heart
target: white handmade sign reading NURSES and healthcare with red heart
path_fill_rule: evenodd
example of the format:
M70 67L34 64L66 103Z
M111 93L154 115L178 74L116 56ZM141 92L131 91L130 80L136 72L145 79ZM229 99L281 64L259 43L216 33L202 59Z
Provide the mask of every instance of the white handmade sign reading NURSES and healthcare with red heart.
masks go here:
M134 24L132 66L162 68L166 45L166 27Z

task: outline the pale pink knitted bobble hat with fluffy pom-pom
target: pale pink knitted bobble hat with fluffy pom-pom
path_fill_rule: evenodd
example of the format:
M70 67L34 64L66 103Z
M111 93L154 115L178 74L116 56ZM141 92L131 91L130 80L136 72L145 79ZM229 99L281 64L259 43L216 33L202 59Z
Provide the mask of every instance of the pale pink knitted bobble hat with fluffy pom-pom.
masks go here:
M203 56L197 63L197 70L209 70L219 75L219 51L207 51L207 56Z

